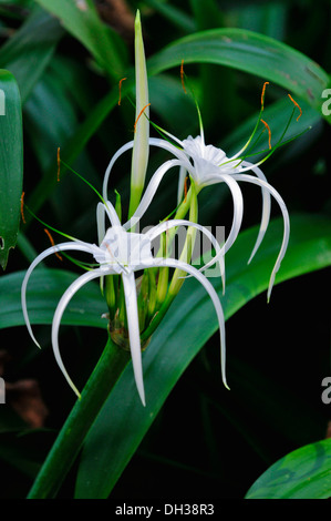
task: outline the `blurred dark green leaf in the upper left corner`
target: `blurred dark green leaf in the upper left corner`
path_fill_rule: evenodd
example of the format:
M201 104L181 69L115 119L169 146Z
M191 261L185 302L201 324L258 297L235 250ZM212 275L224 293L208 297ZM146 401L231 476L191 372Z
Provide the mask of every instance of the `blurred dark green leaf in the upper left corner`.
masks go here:
M20 29L0 49L0 67L11 71L22 103L49 64L63 29L59 21L37 7Z

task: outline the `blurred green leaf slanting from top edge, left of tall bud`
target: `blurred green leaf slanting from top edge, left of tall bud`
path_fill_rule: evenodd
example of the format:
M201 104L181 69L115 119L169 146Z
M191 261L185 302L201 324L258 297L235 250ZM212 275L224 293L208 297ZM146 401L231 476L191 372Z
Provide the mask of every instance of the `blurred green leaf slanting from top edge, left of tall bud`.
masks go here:
M125 65L124 43L101 21L92 0L37 1L60 19L62 25L91 52L111 78L121 79Z

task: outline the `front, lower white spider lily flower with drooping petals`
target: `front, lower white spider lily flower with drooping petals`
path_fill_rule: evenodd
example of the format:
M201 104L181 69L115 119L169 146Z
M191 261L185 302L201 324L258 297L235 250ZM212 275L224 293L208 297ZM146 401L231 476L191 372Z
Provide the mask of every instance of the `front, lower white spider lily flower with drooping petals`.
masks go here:
M100 242L100 245L84 243L81 241L65 242L56 246L52 246L41 253L29 267L21 290L21 300L24 320L29 330L29 334L33 341L39 346L35 337L32 333L32 328L29 320L28 308L27 308L27 286L29 278L33 269L38 264L43 260L45 257L52 254L64 251L77 251L86 252L93 255L94 259L99 264L97 268L91 269L87 273L81 275L71 286L65 290L61 297L58 307L54 313L53 323L52 323L52 347L55 356L55 360L60 369L62 370L64 377L66 378L69 385L80 397L80 392L73 381L71 380L64 364L62 361L59 348L59 328L61 324L61 318L63 313L69 305L71 298L75 293L84 286L90 280L95 278L104 277L105 275L120 275L123 280L124 288L124 298L125 298L125 308L127 316L127 330L128 330L128 341L130 349L132 355L133 370L136 387L142 400L142 403L145 406L145 391L143 382L143 367L142 367L142 350L141 350L141 337L139 337L139 324L138 324L138 307L137 307L137 292L136 292L136 282L135 282L135 272L153 268L153 267L173 267L180 268L189 275L194 276L208 292L216 314L218 318L218 325L220 330L220 345L221 345L221 375L224 384L226 387L226 376L225 376L225 320L221 309L221 304L217 296L216 290L209 280L200 274L198 269L190 266L187 263L177 260L175 258L163 258L163 257L153 257L152 255L152 241L166 232L172 227L193 226L205 233L210 239L213 246L216 249L216 254L219 255L220 248L216 238L213 234L198 224L192 223L189 221L168 221L161 223L157 226L154 226L145 234L131 233L127 232L120 223L115 208L110 202L106 204L99 203L97 206L97 218L102 216L102 213L107 214L111 221L111 227L106 231L103 239ZM100 229L99 229L100 232ZM40 347L40 346L39 346Z

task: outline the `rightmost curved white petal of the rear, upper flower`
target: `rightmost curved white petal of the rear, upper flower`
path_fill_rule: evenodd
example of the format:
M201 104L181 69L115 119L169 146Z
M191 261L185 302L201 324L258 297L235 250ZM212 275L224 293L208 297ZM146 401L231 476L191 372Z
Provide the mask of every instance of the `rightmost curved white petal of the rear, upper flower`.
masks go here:
M268 287L268 294L267 294L267 298L268 298L268 302L269 302L270 300L270 295L271 295L271 289L272 289L273 283L275 283L276 274L277 274L277 272L280 267L280 263L281 263L285 254L286 254L288 243L289 243L289 237L290 237L290 217L289 217L289 213L288 213L288 210L286 207L286 204L285 204L282 197L279 195L277 190L275 190L273 186L271 186L269 183L267 183L267 182L265 182L260 178L254 177L252 175L248 175L248 174L236 174L236 175L234 175L234 177L238 181L245 181L247 183L252 183L252 184L256 184L260 187L263 187L263 188L268 190L268 192L276 198L276 201L279 204L279 207L281 210L281 213L282 213L283 237L282 237L281 247L280 247L280 251L279 251L279 254L278 254L278 257L277 257L277 260L276 260L276 264L273 266L273 269L272 269L272 273L271 273L271 276L270 276L270 280L269 280L269 287Z

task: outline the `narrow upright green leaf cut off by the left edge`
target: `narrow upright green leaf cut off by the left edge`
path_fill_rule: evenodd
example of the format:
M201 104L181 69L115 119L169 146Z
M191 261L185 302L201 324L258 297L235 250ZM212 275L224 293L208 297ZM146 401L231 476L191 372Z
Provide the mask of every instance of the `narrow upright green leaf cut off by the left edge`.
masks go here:
M0 264L17 244L23 183L22 110L14 76L0 70Z

